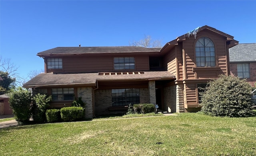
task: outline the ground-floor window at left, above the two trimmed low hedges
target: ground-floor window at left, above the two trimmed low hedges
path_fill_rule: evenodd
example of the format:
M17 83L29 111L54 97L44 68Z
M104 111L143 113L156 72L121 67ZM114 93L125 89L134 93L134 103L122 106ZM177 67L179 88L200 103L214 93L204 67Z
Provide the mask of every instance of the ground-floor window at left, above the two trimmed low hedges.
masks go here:
M52 88L52 101L74 100L74 88Z

